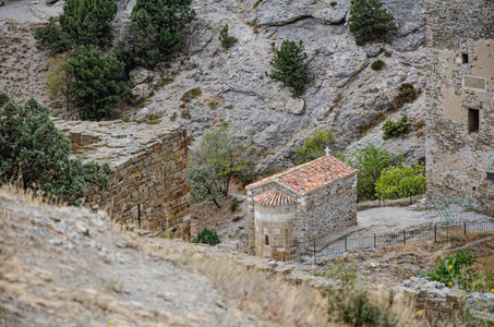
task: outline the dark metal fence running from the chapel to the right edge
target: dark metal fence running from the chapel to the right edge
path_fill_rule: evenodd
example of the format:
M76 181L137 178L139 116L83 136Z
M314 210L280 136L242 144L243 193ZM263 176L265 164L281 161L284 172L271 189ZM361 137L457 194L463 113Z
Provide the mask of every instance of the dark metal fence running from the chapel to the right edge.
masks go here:
M370 250L393 245L406 245L417 241L441 243L458 237L467 237L479 232L494 232L494 221L471 221L458 225L419 226L400 232L370 234L363 237L341 238L329 244L313 242L297 254L287 256L287 261L317 264L323 256L338 255L352 250Z

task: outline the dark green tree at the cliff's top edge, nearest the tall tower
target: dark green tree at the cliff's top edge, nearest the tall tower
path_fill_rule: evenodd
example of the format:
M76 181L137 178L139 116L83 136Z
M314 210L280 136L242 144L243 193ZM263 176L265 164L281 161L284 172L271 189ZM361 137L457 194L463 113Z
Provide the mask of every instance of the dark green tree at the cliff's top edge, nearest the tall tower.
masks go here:
M381 0L356 0L348 21L357 45L386 40L396 31L395 17L383 8Z

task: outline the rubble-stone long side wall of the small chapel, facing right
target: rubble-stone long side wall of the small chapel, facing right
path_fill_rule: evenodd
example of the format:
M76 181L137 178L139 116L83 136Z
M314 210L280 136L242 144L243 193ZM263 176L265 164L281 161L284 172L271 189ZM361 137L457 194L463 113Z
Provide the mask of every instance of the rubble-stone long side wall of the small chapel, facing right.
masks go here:
M305 241L317 240L357 223L357 173L304 196Z

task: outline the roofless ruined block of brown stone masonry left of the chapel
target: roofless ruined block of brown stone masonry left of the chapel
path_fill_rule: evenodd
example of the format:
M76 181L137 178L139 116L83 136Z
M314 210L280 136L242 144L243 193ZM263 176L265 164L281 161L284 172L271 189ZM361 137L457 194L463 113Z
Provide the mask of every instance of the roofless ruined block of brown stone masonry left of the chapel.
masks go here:
M117 222L190 237L188 144L184 129L170 124L52 119L71 141L71 156L108 162L108 190L87 190L85 206Z

